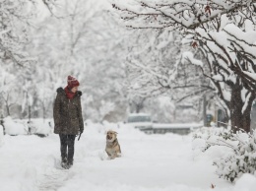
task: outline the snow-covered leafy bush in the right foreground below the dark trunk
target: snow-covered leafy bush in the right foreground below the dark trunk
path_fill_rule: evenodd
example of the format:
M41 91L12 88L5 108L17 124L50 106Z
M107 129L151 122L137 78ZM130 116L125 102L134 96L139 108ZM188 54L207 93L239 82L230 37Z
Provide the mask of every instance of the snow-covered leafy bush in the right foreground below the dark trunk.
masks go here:
M256 132L238 131L234 134L224 129L201 129L194 134L194 139L196 143L205 140L205 146L201 145L202 151L212 146L229 148L222 158L214 160L220 177L233 182L244 173L255 174Z

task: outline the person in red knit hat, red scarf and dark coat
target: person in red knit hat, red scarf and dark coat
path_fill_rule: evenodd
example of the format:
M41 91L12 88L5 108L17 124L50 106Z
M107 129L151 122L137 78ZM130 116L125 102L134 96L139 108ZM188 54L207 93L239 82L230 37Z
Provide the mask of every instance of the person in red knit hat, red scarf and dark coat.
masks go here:
M57 89L53 108L54 133L59 134L61 164L64 168L73 165L75 138L84 131L82 93L78 91L80 84L72 76L68 76L67 83L65 89Z

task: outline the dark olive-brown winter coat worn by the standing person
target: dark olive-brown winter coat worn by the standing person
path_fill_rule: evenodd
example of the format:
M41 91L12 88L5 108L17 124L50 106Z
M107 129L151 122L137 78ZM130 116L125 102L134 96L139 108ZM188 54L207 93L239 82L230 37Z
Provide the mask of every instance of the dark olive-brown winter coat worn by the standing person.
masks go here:
M80 96L82 93L78 91L72 99L68 99L64 89L57 89L53 108L54 133L78 135L84 131Z

